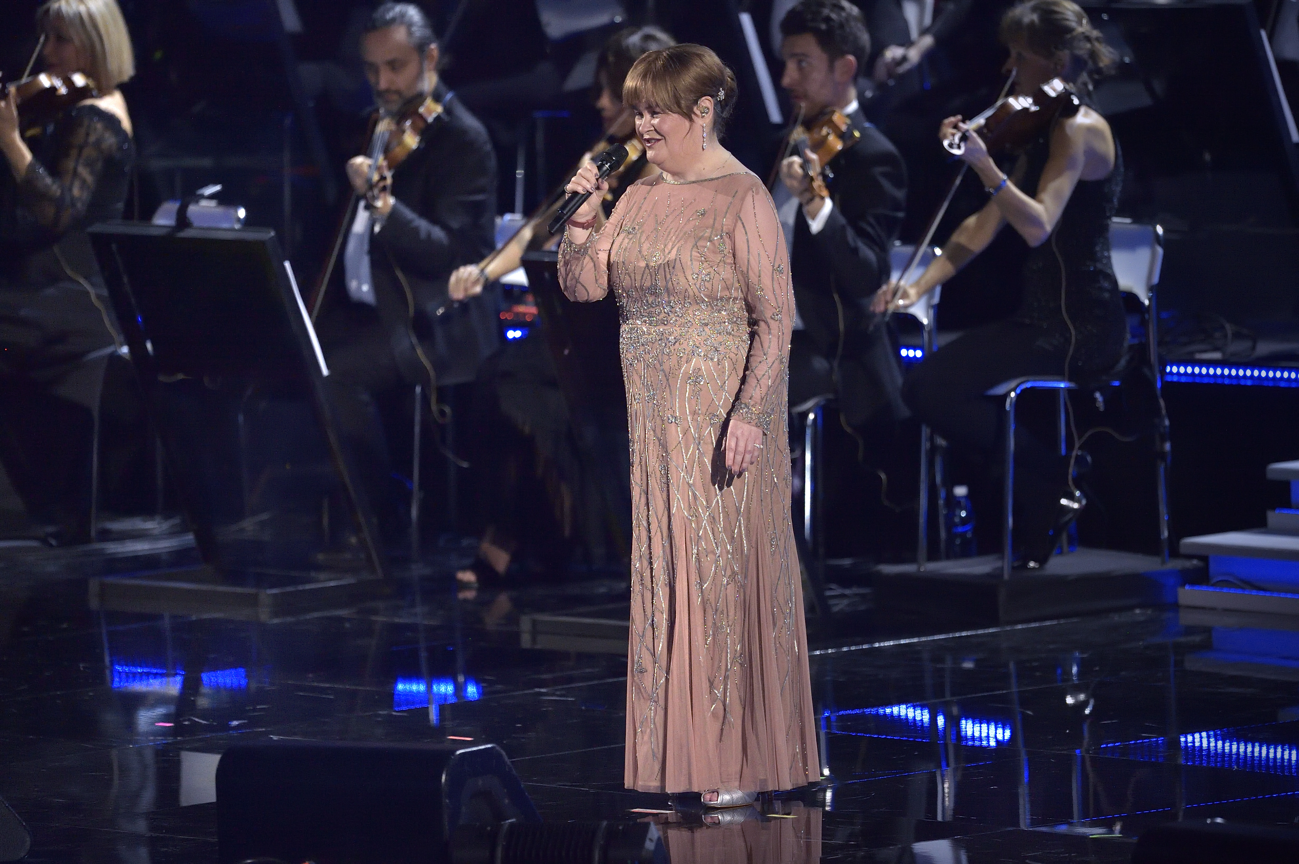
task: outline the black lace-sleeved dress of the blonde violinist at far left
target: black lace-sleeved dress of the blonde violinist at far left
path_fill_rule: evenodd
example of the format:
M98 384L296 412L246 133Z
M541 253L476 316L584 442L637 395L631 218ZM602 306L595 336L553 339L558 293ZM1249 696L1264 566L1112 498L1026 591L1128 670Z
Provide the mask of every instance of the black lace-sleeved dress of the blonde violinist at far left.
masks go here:
M0 165L0 459L34 522L78 536L90 411L116 349L86 228L122 215L135 145L94 105L27 144L34 161L21 180Z

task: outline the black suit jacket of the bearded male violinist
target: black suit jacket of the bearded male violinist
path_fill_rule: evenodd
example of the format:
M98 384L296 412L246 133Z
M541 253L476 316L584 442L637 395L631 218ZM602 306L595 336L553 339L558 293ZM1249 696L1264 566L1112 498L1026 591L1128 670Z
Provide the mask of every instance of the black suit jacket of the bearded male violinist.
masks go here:
M438 384L462 384L474 379L482 358L500 341L495 293L460 304L451 304L447 294L452 270L482 261L495 248L496 156L487 130L459 99L448 99L443 83L433 96L443 104L443 114L392 173L395 201L370 239L370 271L379 319L392 335L403 375L426 379L409 337L403 337L405 328L413 328Z

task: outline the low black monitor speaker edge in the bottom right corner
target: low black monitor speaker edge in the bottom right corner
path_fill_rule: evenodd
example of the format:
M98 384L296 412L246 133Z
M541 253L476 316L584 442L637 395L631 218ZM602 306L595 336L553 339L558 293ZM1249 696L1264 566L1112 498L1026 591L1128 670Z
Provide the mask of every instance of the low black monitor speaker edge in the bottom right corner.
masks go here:
M1168 822L1137 838L1133 864L1299 861L1299 828Z

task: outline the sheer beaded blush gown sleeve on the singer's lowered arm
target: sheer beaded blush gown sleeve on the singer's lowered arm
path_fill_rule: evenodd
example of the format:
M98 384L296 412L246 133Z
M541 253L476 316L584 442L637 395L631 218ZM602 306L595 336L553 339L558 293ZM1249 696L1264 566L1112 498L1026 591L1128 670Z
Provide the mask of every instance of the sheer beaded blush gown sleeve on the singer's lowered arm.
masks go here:
M761 186L740 204L733 245L752 333L733 416L770 432L772 420L785 411L794 292L781 222Z

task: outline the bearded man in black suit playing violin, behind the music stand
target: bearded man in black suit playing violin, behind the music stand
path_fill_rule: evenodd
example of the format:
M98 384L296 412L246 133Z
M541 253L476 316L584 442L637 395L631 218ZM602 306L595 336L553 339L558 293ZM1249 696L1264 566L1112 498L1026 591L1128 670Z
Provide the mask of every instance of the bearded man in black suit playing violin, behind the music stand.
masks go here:
M423 384L464 384L499 342L494 294L453 304L451 272L494 248L496 160L482 123L438 78L438 44L418 6L386 3L361 36L361 58L379 110L426 106L418 147L391 175L369 157L347 165L364 202L348 226L344 291L333 291L321 332L331 397L390 546L405 528L401 486L374 397Z

